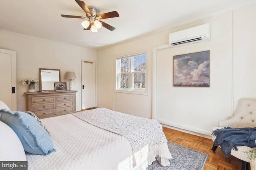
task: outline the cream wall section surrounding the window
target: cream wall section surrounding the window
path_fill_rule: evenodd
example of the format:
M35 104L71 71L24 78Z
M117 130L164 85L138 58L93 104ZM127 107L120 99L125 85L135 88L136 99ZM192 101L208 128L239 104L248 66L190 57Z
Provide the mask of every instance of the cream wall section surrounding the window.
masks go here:
M147 41L145 39L138 39L138 41L133 41L132 43L126 43L124 45L116 45L114 47L114 61L115 57L125 56L129 54L136 54L146 51L146 66L147 68L152 67L152 50L148 48ZM124 50L125 49L125 50ZM115 66L114 66L115 67ZM147 69L146 68L146 69ZM152 89L152 72L151 69L148 70L147 75L147 85L148 89ZM122 113L128 113L130 115L136 115L140 117L151 118L151 115L145 115L145 113L151 113L151 107L144 107L145 104L151 104L152 90L147 91L147 95L138 94L128 94L122 92L114 92L114 109Z

